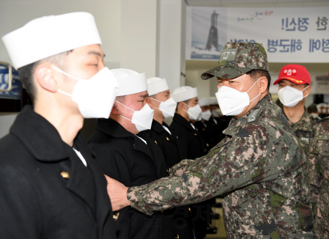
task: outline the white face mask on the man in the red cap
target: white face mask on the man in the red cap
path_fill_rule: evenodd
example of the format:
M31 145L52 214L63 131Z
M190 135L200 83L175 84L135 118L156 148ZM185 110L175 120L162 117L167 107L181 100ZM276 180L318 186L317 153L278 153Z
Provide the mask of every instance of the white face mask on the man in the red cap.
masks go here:
M305 89L308 86L306 86ZM294 107L295 105L297 105L297 103L299 101L301 101L303 98L306 97L306 96L303 97L303 91L305 89L303 89L302 91L300 91L300 90L298 90L298 89L296 89L294 87L291 87L291 86L288 86L287 85L287 86L281 88L278 91L279 99L280 99L281 103L284 106L286 106L286 107Z

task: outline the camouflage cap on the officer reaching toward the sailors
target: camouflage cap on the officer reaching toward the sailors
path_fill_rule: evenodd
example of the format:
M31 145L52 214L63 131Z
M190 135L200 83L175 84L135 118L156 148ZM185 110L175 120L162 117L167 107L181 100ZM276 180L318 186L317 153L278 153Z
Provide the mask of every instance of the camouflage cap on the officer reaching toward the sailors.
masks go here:
M208 80L214 76L231 79L252 69L268 71L264 47L252 42L228 42L222 50L219 66L202 73L201 79Z

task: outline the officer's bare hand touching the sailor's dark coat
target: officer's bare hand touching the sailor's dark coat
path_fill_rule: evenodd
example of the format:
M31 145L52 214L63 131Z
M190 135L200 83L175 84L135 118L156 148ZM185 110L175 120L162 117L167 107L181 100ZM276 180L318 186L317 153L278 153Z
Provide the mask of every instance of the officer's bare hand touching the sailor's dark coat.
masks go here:
M108 177L105 175L107 181L107 194L111 200L112 211L118 211L124 207L130 206L130 203L127 199L127 190L121 182Z

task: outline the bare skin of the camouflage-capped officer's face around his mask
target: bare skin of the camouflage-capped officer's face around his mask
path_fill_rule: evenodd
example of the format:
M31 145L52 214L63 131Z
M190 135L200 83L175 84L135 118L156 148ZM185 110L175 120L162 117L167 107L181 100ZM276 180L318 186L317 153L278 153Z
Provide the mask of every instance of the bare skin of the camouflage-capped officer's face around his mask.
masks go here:
M255 83L254 80L250 78L249 75L243 74L242 76L232 78L232 79L224 79L224 78L217 78L218 85L217 90L222 86L227 86L236 90L239 90L240 92L247 92L249 99L252 100L255 97L257 97L260 94L260 88L261 88L261 79L251 88L251 86ZM257 81L257 80L256 80ZM263 86L264 87L264 86ZM257 103L260 101L261 96L259 98L254 99L249 103L248 106L246 106L243 110L243 112L240 115L234 116L235 118L240 118L241 116L248 113L254 106L257 105Z

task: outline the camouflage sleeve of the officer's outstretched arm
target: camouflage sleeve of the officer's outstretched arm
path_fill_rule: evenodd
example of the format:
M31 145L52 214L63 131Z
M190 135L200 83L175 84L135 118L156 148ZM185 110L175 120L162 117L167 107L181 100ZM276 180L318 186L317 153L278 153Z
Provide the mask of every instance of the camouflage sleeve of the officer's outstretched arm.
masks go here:
M181 176L161 178L127 191L131 206L152 211L197 203L253 182L271 180L293 171L299 164L298 145L283 140L280 130L243 128L217 148L192 161ZM289 149L290 148L290 149Z

